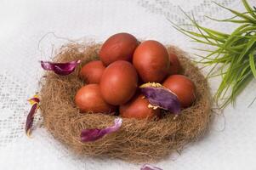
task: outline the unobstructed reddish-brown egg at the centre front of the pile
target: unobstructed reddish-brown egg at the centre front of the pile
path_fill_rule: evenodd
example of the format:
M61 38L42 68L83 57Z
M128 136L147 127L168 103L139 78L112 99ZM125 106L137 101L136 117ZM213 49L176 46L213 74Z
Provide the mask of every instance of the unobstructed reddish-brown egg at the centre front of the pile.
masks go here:
M135 94L138 76L128 61L118 60L105 68L100 80L100 92L111 105L122 105Z

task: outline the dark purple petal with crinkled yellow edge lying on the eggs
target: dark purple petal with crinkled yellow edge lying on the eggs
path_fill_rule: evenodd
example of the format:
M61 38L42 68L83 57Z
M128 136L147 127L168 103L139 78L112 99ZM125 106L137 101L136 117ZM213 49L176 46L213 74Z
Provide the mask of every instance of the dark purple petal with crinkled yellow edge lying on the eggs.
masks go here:
M173 94L168 88L164 88L159 83L147 83L142 86L141 93L145 95L145 98L151 103L151 107L160 107L164 110L179 114L180 102L175 94Z

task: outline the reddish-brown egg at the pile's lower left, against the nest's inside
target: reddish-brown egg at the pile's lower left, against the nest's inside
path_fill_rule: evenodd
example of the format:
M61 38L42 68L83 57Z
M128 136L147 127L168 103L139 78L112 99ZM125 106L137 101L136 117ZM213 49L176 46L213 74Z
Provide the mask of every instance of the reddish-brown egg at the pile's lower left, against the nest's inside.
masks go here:
M82 112L112 113L116 106L105 102L100 94L99 84L88 84L77 91L75 103Z

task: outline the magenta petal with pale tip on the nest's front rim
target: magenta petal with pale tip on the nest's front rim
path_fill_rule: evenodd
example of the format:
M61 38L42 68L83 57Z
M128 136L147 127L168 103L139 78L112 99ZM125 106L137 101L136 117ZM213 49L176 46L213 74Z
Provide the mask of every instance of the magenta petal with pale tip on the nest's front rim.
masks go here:
M122 125L122 118L116 118L115 124L111 127L106 128L93 128L93 129L83 129L81 132L82 142L92 142L101 139L107 133L116 132Z

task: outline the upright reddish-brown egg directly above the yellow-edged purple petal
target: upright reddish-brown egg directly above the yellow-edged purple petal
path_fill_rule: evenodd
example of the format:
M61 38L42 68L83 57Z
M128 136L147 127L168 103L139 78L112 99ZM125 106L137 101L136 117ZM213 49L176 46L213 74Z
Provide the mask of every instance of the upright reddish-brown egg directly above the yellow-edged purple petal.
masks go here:
M144 82L162 82L170 65L168 50L154 40L142 42L134 52L133 64Z

